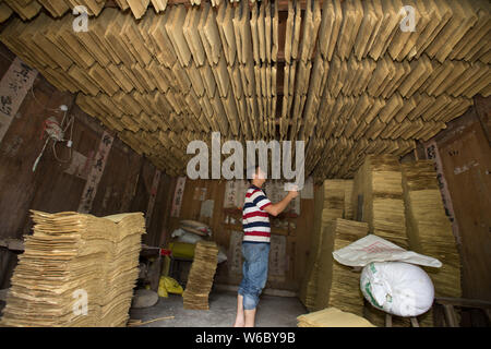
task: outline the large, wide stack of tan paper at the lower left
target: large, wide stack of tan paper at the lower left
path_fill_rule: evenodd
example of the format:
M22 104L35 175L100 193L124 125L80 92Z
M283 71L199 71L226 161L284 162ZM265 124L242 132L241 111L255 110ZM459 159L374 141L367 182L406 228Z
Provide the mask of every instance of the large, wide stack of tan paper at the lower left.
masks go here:
M143 214L32 215L34 232L25 237L1 325L125 326Z

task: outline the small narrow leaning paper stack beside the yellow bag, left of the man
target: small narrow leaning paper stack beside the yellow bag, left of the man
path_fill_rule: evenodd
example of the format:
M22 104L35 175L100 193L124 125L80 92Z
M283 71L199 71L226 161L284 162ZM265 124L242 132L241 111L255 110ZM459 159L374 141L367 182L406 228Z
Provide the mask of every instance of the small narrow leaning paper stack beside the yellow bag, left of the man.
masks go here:
M208 294L218 263L218 246L213 241L199 241L182 293L184 309L208 310Z

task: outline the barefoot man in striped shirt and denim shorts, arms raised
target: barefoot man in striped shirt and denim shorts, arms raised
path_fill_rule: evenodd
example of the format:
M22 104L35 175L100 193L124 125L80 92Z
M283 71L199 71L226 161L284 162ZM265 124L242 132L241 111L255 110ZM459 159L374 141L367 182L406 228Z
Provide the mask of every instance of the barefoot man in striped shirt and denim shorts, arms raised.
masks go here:
M254 327L255 308L267 280L271 226L270 216L279 215L291 200L298 196L290 191L284 200L272 204L261 186L266 176L260 167L255 168L249 186L242 214L243 241L242 281L237 296L237 317L233 327Z

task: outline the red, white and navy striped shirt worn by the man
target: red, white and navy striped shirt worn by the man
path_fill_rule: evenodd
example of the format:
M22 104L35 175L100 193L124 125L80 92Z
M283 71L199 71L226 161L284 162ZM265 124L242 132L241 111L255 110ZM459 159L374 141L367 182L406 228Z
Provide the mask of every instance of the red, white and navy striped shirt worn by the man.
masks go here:
M248 189L242 213L243 242L270 243L270 215L264 210L270 205L271 201L260 188L251 185Z

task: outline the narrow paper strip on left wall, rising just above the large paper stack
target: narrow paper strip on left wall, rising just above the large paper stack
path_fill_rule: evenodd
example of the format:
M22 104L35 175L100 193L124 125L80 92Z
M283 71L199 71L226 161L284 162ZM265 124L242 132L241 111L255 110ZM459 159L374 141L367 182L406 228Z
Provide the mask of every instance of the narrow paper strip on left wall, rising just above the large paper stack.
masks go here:
M103 178L104 169L106 168L106 163L113 141L113 137L109 133L103 133L99 148L97 149L97 153L92 161L91 172L88 174L87 182L85 183L84 191L82 192L82 198L79 205L80 213L87 214L92 209L92 204L94 203L97 188L100 179Z

